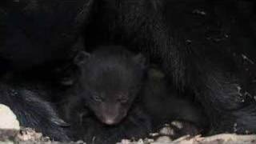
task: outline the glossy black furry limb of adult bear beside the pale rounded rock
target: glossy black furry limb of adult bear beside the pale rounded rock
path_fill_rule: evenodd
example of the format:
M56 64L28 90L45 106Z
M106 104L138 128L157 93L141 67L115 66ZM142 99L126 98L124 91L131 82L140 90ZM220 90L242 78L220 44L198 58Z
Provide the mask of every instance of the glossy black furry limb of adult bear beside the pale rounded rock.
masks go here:
M64 122L50 102L42 99L42 90L29 90L31 86L0 84L0 103L9 106L21 126L30 127L56 141L69 141ZM63 127L64 126L64 127Z

